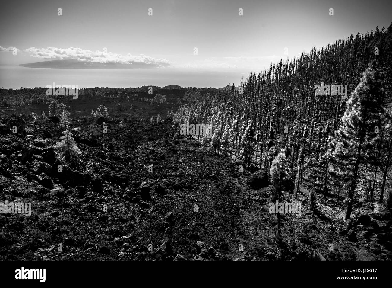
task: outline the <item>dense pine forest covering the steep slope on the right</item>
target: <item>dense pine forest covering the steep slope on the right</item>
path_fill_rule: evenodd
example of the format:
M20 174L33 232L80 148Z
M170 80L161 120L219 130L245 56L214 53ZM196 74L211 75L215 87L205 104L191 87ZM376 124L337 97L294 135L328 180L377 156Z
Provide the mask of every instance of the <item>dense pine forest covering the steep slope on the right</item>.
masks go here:
M343 201L345 219L354 197L390 206L391 48L392 25L351 34L251 72L239 91L234 84L213 94L189 91L174 122L211 124L211 139L198 136L204 148L262 168L274 184L272 202L296 198L309 181L312 210L316 195ZM347 85L347 94L336 85Z

